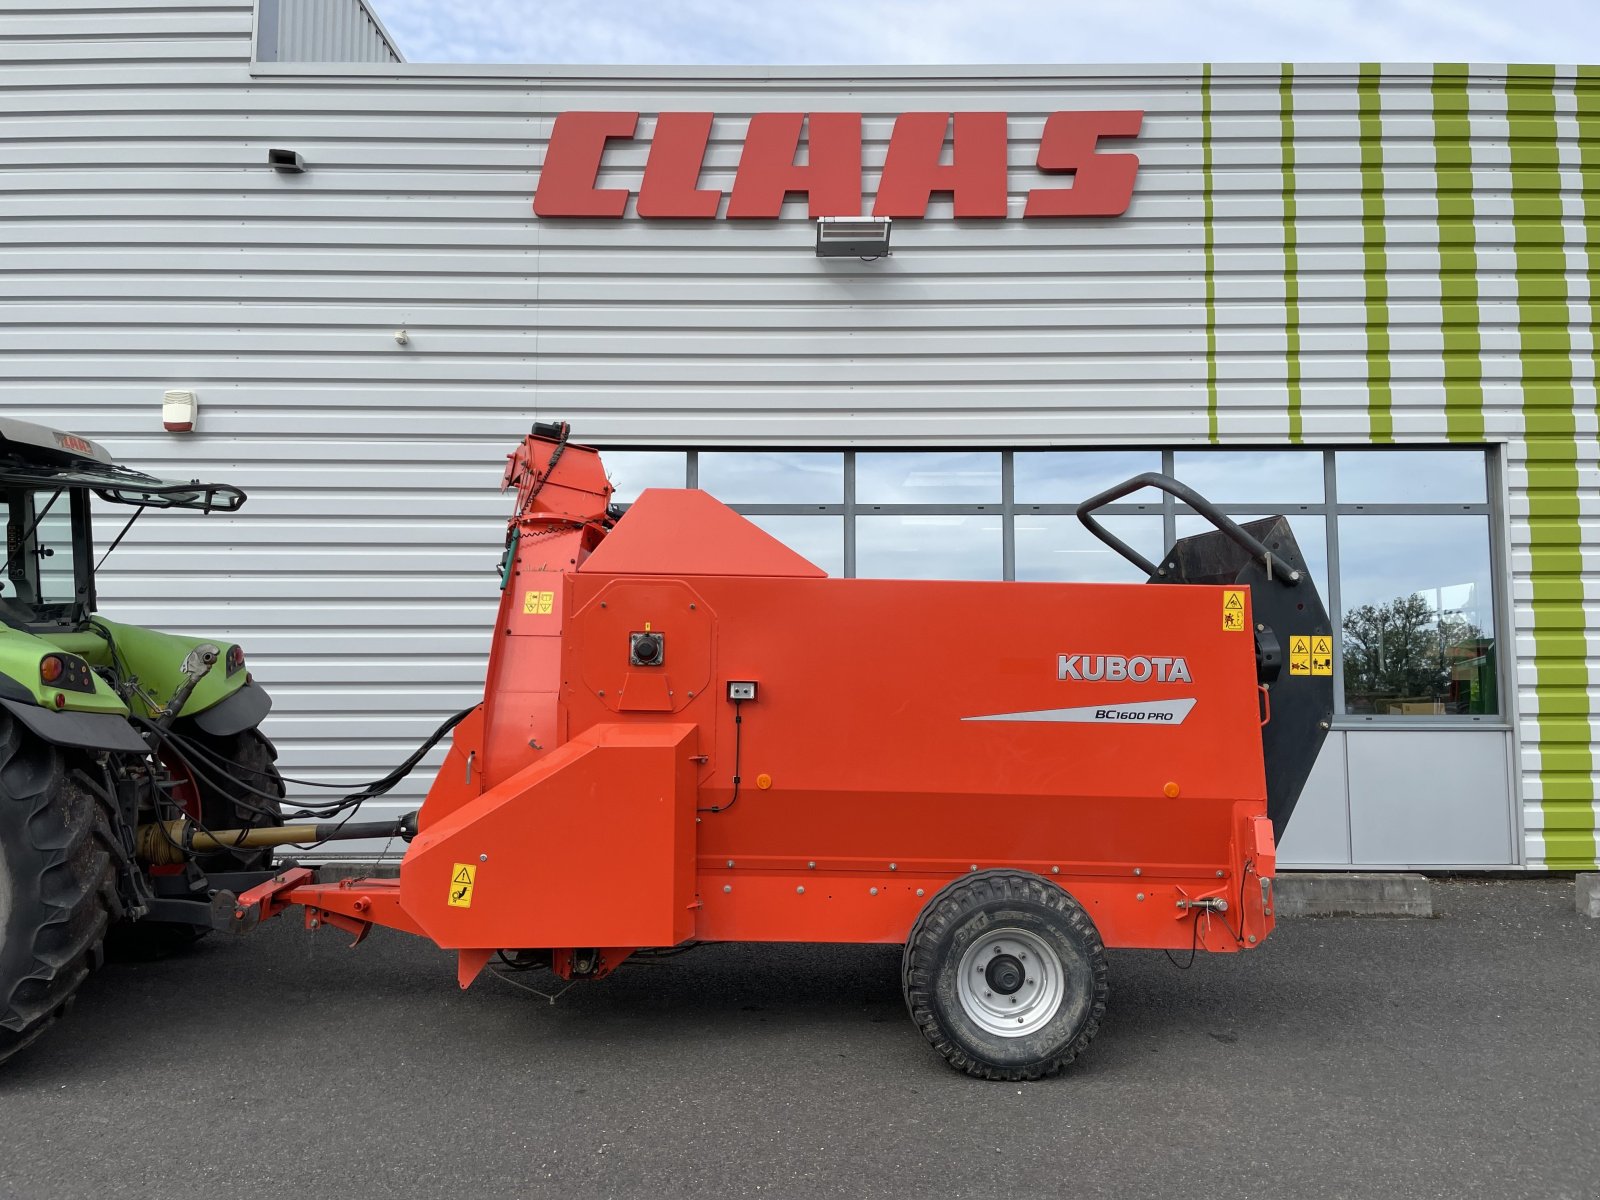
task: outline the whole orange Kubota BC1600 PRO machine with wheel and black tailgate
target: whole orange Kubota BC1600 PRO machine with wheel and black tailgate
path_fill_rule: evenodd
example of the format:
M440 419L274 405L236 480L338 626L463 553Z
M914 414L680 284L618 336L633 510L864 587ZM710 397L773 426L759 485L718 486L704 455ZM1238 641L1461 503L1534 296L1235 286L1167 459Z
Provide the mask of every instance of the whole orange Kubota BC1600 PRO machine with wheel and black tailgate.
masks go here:
M405 930L454 950L462 987L496 955L576 979L694 942L902 944L930 1043L1008 1080L1094 1035L1106 947L1270 933L1275 837L1331 710L1325 666L1283 653L1330 630L1282 518L1238 526L1141 475L1080 518L1187 586L830 579L701 491L614 518L565 426L534 427L506 485L483 702L400 878L290 869L235 926L302 906ZM1142 486L1216 531L1142 560L1093 515Z

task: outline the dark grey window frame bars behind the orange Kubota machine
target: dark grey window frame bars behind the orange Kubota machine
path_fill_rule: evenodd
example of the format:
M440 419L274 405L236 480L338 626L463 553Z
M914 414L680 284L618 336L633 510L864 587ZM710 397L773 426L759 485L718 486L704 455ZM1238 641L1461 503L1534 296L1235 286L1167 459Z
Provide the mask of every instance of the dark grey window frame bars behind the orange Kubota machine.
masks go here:
M645 445L616 445L613 450L672 450L685 453L685 486L699 486L699 451L683 450L680 446L645 446ZM1218 509L1229 517L1251 517L1261 515L1269 509L1280 512L1290 518L1290 523L1320 520L1323 523L1326 549L1328 549L1328 579L1323 581L1323 605L1328 608L1330 622L1333 626L1333 691L1334 691L1334 718L1333 728L1336 730L1403 730L1403 728L1498 728L1507 730L1512 723L1512 714L1509 707L1507 690L1510 682L1515 678L1515 662L1507 661L1504 654L1496 669L1496 712L1493 714L1438 714L1438 715L1392 715L1392 714L1349 714L1346 712L1344 699L1344 630L1342 630L1342 605L1339 597L1339 517L1352 515L1402 515L1402 517L1429 517L1429 515L1458 515L1458 514L1477 514L1485 517L1488 526L1488 563L1490 563L1490 584L1494 589L1494 643L1504 651L1506 646L1515 645L1515 638L1510 637L1514 613L1509 602L1507 590L1507 574L1506 574L1506 533L1504 533L1504 504L1502 504L1502 459L1499 446L1493 443L1397 443L1394 450L1453 450L1466 453L1478 453L1483 456L1485 470L1485 501L1475 502L1346 502L1339 499L1338 478L1336 478L1336 454L1341 450L1376 450L1384 451L1389 446L1374 446L1371 443L1338 443L1323 446L1285 446L1274 443L1267 446L1269 450L1296 450L1296 451L1312 451L1322 454L1322 470L1323 470L1323 499L1317 502L1302 504L1285 504L1285 506L1269 506L1262 502L1251 504L1218 504ZM602 454L606 446L602 446ZM707 448L712 450L712 448ZM739 450L739 446L715 446L717 453L728 450ZM771 450L771 446L758 446L758 450ZM1016 579L1016 518L1018 515L1074 515L1077 512L1077 502L1019 502L1016 499L1016 454L1029 453L1061 453L1082 450L1085 453L1117 450L1117 451L1142 451L1142 453L1158 453L1162 461L1162 472L1166 475L1176 474L1176 456L1195 454L1206 451L1240 451L1246 446L1229 445L1229 446L1139 446L1139 445L1085 445L1085 446L1014 446L1014 448L995 448L995 446L962 446L962 450L982 450L995 451L1000 454L1000 499L995 502L920 502L920 504L862 504L856 501L856 453L854 450L840 450L838 446L827 445L806 445L806 446L784 446L789 451L826 451L826 453L842 453L845 459L845 496L838 502L829 504L733 504L736 512L746 515L771 515L771 517L797 517L797 515L830 515L842 517L843 522L843 578L856 576L856 517L862 515L939 515L939 517L968 517L968 515L998 515L1002 525L1002 579ZM898 453L949 453L949 446L870 446L861 453L882 453L882 451L898 451ZM1114 515L1130 515L1130 514L1160 514L1162 517L1162 536L1166 546L1171 546L1176 536L1176 523L1179 514L1190 514L1192 510L1179 504L1173 496L1166 493L1136 493L1142 499L1122 499L1114 504L1107 504L1101 509L1102 514ZM1088 499L1085 496L1083 499ZM1131 568L1130 568L1131 571ZM1133 582L1134 573L1130 573L1126 579L1107 579L1106 582Z

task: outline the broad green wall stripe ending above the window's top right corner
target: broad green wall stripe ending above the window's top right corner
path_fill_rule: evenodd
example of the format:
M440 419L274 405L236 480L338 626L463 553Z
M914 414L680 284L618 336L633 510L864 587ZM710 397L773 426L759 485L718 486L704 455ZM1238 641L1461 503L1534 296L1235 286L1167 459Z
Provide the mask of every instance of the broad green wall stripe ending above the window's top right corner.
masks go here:
M1434 194L1438 200L1438 286L1445 314L1445 432L1483 440L1483 344L1478 336L1478 251L1472 206L1467 67L1434 67Z

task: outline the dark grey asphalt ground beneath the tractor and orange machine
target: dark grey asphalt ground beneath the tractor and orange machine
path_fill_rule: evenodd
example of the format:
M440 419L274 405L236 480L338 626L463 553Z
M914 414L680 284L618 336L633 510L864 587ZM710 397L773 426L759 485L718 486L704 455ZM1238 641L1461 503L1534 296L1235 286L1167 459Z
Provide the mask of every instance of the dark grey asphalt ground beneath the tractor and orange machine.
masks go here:
M898 949L704 947L552 1006L280 920L106 968L0 1069L0 1194L1600 1195L1600 922L1570 880L1435 898L1114 954L1099 1038L1034 1085L946 1067Z

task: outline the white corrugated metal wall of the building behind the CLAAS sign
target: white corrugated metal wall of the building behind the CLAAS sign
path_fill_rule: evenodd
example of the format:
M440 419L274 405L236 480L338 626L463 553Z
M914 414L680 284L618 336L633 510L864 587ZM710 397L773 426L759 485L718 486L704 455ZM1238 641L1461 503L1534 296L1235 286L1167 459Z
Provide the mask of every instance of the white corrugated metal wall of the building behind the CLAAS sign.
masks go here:
M1376 224L1362 146L1374 114L1355 70L1301 69L1293 82L1296 430L1275 69L253 72L245 0L48 11L11 0L0 13L8 411L253 493L237 518L142 523L114 558L104 603L240 637L278 698L270 728L294 770L379 774L474 698L504 514L499 461L533 416L632 445L1173 445L1206 442L1213 421L1222 442L1365 442L1378 432L1363 293L1376 227L1387 419L1398 440L1451 437L1426 69L1384 72L1371 90L1389 202ZM1541 691L1534 667L1525 314L1504 133L1496 142L1504 78L1482 72L1467 98L1482 438L1509 448L1526 712L1555 693ZM1571 149L1571 96L1560 104ZM640 139L608 154L611 186L637 186L648 114L714 110L701 186L723 190L752 112L866 114L870 189L896 114L976 109L1011 114L1016 214L1026 189L1046 182L1032 168L1045 115L1078 107L1146 112L1125 218L957 222L934 202L934 219L896 227L893 258L862 264L813 258L803 205L747 222L541 222L530 211L542 142L568 109L646 114ZM299 150L309 171L270 173L269 146ZM1562 171L1576 174L1576 149L1563 154ZM1581 179L1563 182L1578 288ZM1587 389L1592 373L1579 374ZM168 387L198 392L197 435L160 432ZM1592 570L1587 395L1578 443ZM1581 587L1592 594L1595 581ZM1582 618L1565 653L1587 669ZM1574 694L1586 696L1582 682L1558 699ZM1587 782L1592 797L1586 760L1570 762L1563 786ZM1549 763L1531 722L1520 776L1526 858L1555 859L1541 834Z

